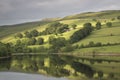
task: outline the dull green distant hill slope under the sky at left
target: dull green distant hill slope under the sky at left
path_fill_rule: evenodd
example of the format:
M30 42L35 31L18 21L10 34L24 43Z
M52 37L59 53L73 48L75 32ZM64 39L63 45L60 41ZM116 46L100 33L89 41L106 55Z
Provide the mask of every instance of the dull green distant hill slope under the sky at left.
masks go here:
M37 22L29 22L29 23L22 23L16 25L5 25L0 26L0 39L6 38L11 36L12 34L22 32L25 30L33 29L49 23L48 21L37 21Z

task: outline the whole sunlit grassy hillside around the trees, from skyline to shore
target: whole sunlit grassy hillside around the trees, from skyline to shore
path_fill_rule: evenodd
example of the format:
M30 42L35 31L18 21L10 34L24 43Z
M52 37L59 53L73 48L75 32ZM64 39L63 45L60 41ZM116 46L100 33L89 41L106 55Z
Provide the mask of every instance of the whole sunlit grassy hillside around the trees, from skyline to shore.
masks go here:
M60 22L62 24L68 24L69 31L65 31L62 34L46 34L39 35L35 37L36 39L42 37L44 39L44 44L42 45L31 45L28 46L30 48L38 48L40 46L44 46L46 48L50 47L48 43L48 38L50 36L54 37L64 37L66 40L70 39L70 36L73 35L74 32L78 31L83 27L83 24L90 22L93 27L95 27L96 23L99 21L102 24L102 29L94 30L89 36L80 40L77 43L72 44L72 46L81 46L88 45L90 41L94 43L100 42L101 44L114 44L120 43L120 21L117 17L120 16L120 10L111 10L111 11L101 11L101 12L87 12L81 13L77 15L71 15L64 18L53 18L53 19L44 19L43 21L24 23L18 25L8 25L8 26L0 26L0 41L2 42L12 42L15 43L19 38L15 38L14 35L16 33L24 33L25 31L31 31L36 29L39 32L43 32L46 28L51 27L50 25L53 22ZM112 22L112 27L107 27L106 23ZM77 27L72 29L72 25L76 24ZM26 42L28 39L23 37L20 39L22 42ZM120 52L120 45L113 46L101 46L101 47L90 47L90 48L82 48L75 49L73 53L79 52Z

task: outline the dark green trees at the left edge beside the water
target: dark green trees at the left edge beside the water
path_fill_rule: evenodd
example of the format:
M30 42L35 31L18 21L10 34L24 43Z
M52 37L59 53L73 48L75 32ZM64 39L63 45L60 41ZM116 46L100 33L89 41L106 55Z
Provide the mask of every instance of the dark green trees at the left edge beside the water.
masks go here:
M0 57L11 55L11 45L9 43L4 44L0 42Z

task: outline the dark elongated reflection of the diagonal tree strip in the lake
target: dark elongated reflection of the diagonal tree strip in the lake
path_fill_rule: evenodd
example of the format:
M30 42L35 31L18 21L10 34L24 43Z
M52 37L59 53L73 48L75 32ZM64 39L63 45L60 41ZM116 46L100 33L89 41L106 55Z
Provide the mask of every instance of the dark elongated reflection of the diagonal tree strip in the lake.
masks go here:
M92 68L88 65L82 64L80 62L76 62L74 61L72 63L72 67L80 73L85 74L87 77L93 77L94 71L92 70Z

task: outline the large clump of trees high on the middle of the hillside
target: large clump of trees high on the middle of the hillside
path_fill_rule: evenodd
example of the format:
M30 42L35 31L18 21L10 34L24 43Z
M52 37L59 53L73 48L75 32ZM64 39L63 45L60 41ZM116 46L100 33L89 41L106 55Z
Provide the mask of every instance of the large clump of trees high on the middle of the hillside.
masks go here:
M67 24L54 22L50 24L50 27L46 28L43 32L41 32L41 35L64 33L67 30L69 30Z

